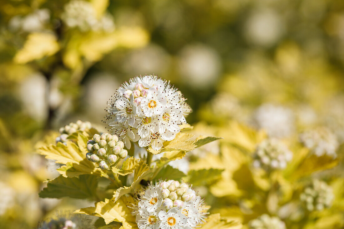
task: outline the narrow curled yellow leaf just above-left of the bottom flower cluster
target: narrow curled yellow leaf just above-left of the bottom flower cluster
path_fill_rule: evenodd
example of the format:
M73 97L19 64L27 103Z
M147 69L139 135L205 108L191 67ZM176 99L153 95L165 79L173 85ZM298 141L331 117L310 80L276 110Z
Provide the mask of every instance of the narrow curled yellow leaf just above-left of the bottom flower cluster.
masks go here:
M149 166L146 163L144 163L144 161L141 160L135 169L133 183L129 187L124 186L124 187L118 188L112 199L114 201L117 201L118 198L120 198L121 196L127 193L134 192L140 186L140 182L144 178L144 175L147 173L147 171L149 171Z

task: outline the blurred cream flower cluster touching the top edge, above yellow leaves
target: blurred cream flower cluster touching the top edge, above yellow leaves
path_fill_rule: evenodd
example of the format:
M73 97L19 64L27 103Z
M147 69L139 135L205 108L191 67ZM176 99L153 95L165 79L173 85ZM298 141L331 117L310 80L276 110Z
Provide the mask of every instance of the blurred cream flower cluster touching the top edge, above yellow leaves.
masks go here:
M98 18L92 4L84 0L72 0L64 7L62 19L68 27L77 27L80 31L106 31L114 30L115 25L110 14Z

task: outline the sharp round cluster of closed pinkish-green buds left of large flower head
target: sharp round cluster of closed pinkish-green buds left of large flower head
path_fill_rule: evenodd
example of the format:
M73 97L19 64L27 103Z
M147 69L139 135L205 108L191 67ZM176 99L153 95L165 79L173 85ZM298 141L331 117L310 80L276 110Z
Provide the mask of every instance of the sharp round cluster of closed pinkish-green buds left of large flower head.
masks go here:
M86 158L89 161L98 163L102 170L108 170L128 156L128 151L123 147L124 143L118 141L117 135L109 133L95 134L93 139L87 142L88 153L86 153Z

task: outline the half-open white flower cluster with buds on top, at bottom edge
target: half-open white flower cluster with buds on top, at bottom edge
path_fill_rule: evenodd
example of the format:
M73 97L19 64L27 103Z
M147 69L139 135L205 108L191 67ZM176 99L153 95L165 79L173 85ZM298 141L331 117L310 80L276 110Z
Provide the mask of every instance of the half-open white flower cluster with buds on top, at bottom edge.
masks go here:
M188 184L169 180L148 185L133 214L139 229L191 229L207 208Z

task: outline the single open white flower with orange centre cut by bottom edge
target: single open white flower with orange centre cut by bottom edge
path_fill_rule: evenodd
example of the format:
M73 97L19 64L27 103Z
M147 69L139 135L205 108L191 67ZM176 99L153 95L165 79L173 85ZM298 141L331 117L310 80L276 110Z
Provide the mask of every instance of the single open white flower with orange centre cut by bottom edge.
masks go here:
M179 208L171 208L168 212L160 211L161 229L184 229L187 218L182 214Z

